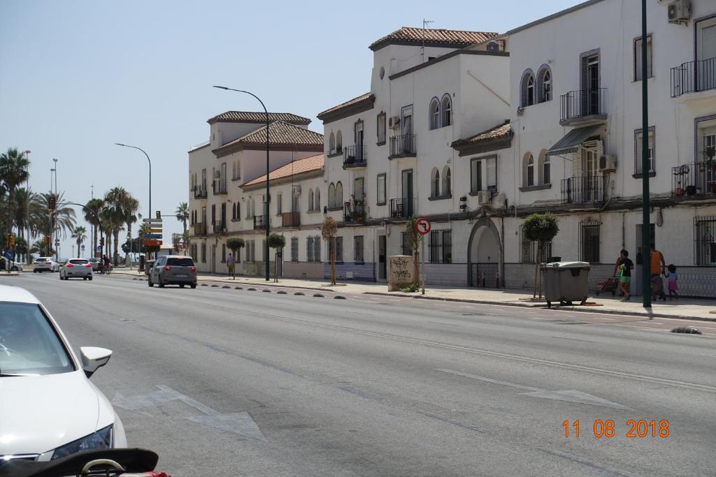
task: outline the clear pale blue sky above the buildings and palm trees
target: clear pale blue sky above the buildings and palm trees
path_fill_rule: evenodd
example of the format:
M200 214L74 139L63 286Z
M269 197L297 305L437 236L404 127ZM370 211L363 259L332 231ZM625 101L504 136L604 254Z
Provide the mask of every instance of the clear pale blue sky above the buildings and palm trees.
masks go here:
M171 214L188 202L187 151L208 139L206 119L261 109L211 85L322 132L316 113L369 89L368 45L400 26L502 33L578 3L2 0L0 149L32 151L35 191L49 190L54 157L67 200L122 185L146 217L147 159L113 143L137 145L152 159L152 208ZM165 243L180 231L165 218Z

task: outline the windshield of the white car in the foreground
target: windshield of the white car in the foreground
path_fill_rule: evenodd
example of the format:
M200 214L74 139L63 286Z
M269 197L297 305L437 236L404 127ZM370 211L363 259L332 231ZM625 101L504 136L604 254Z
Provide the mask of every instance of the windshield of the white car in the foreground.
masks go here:
M0 375L74 370L47 317L32 303L0 303Z

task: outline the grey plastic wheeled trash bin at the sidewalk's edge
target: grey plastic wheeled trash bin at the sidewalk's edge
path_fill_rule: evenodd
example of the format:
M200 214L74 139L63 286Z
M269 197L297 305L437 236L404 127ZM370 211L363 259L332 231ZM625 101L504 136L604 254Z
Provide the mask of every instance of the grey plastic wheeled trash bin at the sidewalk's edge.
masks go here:
M587 262L551 262L542 265L547 307L551 308L552 303L584 303L589 293L590 267Z

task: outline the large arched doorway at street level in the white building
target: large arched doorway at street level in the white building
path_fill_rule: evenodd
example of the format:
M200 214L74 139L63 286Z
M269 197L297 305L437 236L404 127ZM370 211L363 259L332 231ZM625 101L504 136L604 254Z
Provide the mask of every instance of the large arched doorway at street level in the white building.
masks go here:
M475 222L468 241L468 285L470 287L495 287L497 277L502 286L504 271L500 232L492 220L482 218Z

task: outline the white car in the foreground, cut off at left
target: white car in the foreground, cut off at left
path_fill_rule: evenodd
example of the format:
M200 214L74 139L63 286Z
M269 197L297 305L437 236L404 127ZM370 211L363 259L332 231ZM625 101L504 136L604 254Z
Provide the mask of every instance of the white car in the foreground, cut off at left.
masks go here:
M79 351L82 361L34 295L0 285L0 467L127 446L122 421L88 379L112 351Z

